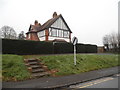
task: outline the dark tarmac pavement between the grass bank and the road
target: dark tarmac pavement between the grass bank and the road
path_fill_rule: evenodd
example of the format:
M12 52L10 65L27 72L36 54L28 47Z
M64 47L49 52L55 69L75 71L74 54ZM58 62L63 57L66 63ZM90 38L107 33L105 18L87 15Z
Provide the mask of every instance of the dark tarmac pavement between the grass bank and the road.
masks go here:
M61 77L43 77L20 82L2 82L2 88L60 88L77 83L112 76L120 72L119 67L100 69Z

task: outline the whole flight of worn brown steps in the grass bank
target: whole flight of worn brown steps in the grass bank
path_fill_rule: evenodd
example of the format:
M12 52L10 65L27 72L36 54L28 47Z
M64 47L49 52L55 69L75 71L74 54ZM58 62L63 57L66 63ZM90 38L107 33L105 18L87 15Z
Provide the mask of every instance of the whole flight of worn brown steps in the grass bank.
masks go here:
M41 63L41 60L24 59L24 62L33 78L49 75L49 73L47 72L48 71L47 66Z

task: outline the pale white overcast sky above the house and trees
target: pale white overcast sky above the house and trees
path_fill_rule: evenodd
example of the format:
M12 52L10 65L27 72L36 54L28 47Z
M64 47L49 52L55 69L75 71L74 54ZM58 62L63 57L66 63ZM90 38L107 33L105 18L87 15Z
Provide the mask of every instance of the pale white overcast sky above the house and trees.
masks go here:
M118 32L120 0L0 0L0 28L8 25L18 33L41 24L56 11L62 14L79 43L102 46L102 38Z

